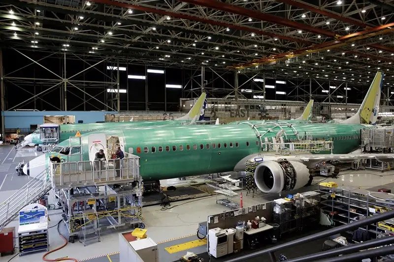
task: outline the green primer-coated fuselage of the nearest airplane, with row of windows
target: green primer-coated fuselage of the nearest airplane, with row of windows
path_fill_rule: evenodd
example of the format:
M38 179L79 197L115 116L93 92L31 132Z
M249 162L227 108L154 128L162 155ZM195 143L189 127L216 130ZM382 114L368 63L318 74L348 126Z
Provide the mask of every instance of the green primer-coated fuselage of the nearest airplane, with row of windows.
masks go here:
M262 135L262 141L264 138L272 141L272 137L276 137L277 132L283 129L285 141L296 141L297 133L299 139L332 140L333 153L350 153L359 148L360 130L375 127L362 124L294 123L281 127L265 124L256 128L258 131L243 123L160 128L152 126L93 133L123 137L125 150L140 157L140 174L145 181L149 181L232 171L242 158L262 150L258 134ZM268 129L271 131L267 132ZM92 133L82 136L84 160L89 160L89 134ZM68 141L59 144L68 145ZM50 155L53 153L47 153L47 156Z

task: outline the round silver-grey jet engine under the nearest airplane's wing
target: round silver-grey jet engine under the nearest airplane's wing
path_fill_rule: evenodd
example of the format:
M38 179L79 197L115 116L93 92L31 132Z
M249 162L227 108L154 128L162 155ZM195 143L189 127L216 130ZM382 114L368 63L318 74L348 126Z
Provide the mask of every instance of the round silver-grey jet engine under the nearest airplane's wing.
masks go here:
M264 193L279 193L301 188L309 180L308 168L284 159L264 161L256 167L255 181Z

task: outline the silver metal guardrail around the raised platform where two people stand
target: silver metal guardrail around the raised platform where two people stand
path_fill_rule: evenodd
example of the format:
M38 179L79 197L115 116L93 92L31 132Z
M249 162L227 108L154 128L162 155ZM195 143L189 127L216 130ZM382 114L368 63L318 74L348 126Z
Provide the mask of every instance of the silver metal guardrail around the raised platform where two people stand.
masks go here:
M106 161L51 163L52 184L56 188L126 183L139 180L139 157Z

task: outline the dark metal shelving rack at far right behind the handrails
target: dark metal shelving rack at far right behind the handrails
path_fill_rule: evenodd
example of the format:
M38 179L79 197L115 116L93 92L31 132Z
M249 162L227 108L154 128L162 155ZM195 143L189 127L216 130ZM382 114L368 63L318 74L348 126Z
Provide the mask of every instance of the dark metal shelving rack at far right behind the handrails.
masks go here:
M335 225L348 224L394 209L394 202L385 199L385 193L371 192L364 189L347 187L326 187L319 185L318 192L323 193L322 210L329 215ZM373 195L381 195L374 197ZM385 221L382 221L385 223ZM379 222L379 223L382 223ZM384 229L379 223L367 225L360 229L372 233L376 238L392 234L391 230ZM393 223L393 222L391 222Z

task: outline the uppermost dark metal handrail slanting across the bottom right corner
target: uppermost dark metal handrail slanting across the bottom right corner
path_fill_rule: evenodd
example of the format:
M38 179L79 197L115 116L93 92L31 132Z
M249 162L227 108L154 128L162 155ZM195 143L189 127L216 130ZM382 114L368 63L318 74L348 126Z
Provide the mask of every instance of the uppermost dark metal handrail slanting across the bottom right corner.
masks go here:
M290 241L290 242L287 242L287 243L283 243L283 244L280 244L280 245L277 245L277 246L273 246L273 247L270 247L270 248L267 248L267 249L264 249L264 250L261 250L261 251L257 251L255 253L243 255L243 256L240 256L240 257L237 257L237 258L234 258L234 259L227 260L225 262L243 262L243 261L246 261L248 259L252 259L252 258L256 258L256 257L262 256L263 254L269 254L271 262L276 262L277 260L276 260L275 255L274 255L274 252L276 252L276 251L279 251L279 250L282 250L282 249L285 249L285 248L288 248L288 247L293 247L294 245L297 245L297 244L310 242L310 241L313 241L313 240L321 239L323 237L328 237L328 236L334 235L336 233L342 233L342 232L346 232L346 231L349 231L349 230L358 229L359 227L370 225L370 224L373 224L373 223L378 223L380 221L385 221L385 220L388 220L388 219L391 219L391 218L394 218L394 210L387 211L387 212L381 213L379 215L370 216L370 217L367 217L366 219L363 219L363 220L360 220L360 221L355 221L355 222L352 222L352 223L349 223L349 224L346 224L346 225L342 225L342 226L339 226L339 227L328 229L328 230L323 231L323 232L307 235L307 236L304 236L302 238L298 238L296 240L293 240L293 241ZM313 260L311 260L311 261L313 261Z

